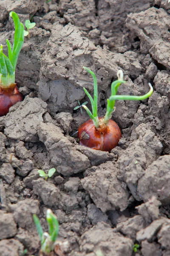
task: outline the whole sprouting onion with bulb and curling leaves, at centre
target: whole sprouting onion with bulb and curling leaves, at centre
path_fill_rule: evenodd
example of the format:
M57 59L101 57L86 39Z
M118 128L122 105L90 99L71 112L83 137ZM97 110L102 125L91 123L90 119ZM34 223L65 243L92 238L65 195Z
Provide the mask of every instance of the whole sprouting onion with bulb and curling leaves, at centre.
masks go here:
M107 99L107 111L105 116L98 117L97 114L97 101L98 101L98 87L97 87L97 79L96 75L87 67L84 69L91 74L94 80L94 99L88 93L88 91L84 89L86 95L90 99L92 112L88 109L87 106L83 105L88 115L90 116L90 120L82 124L78 128L77 137L79 138L79 144L84 145L89 148L93 148L96 150L102 151L111 151L112 148L116 147L121 138L121 132L119 126L111 119L112 113L115 111L115 101L116 100L135 100L142 101L150 97L153 93L153 87L149 83L150 90L148 93L142 96L131 96L131 95L116 95L117 90L120 84L125 83L123 80L123 72L122 70L118 70L117 77L118 79L111 84L111 96Z

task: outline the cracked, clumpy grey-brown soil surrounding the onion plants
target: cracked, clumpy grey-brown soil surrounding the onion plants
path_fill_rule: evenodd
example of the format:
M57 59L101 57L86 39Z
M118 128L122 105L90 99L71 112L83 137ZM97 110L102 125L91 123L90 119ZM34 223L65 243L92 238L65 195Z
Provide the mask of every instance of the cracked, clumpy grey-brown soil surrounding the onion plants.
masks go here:
M66 256L170 256L170 3L167 0L0 0L0 44L15 11L36 27L25 38L16 82L25 97L0 117L0 255L38 255L32 219L57 215ZM122 131L111 153L71 137L88 120L73 111L99 85L99 116L122 69L116 102ZM89 106L89 104L88 104ZM38 169L53 177L45 181ZM135 254L133 244L140 244ZM98 251L98 253L97 253ZM63 254L64 253L64 254Z

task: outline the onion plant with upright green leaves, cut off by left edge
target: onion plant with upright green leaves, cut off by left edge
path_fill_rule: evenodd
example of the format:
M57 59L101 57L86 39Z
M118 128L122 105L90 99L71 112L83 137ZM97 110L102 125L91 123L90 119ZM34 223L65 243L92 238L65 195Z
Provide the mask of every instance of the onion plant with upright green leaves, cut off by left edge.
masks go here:
M15 32L12 47L6 39L8 57L3 53L3 45L0 45L0 116L6 115L11 106L23 100L15 83L15 68L24 42L24 26L15 12L10 12L9 16L14 21Z

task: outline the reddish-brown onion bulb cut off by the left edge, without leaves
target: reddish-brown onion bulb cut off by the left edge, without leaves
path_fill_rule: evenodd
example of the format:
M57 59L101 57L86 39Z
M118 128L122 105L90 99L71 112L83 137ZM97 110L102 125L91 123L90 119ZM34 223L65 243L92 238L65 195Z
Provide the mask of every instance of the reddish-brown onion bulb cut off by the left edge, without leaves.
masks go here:
M9 88L0 87L0 116L5 116L11 106L22 100L23 96L16 84L11 84Z

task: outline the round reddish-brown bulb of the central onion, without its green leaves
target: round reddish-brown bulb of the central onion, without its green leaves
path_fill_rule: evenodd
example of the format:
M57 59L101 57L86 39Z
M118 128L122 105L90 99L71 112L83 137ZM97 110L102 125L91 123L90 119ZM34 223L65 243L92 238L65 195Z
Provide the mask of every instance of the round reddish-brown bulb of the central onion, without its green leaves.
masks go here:
M103 117L99 117L101 121ZM121 138L119 126L113 120L109 120L107 126L96 128L92 119L88 120L78 128L77 137L79 145L88 148L109 151L116 147Z

